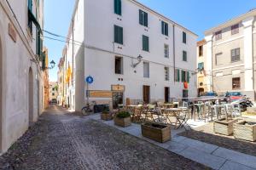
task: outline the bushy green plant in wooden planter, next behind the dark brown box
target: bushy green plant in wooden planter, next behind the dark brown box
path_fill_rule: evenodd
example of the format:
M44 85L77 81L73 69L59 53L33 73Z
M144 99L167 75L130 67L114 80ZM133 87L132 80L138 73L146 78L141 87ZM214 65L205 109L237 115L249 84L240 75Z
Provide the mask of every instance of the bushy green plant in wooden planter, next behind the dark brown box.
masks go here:
M131 114L128 111L120 111L114 116L113 122L119 127L128 127L131 125Z

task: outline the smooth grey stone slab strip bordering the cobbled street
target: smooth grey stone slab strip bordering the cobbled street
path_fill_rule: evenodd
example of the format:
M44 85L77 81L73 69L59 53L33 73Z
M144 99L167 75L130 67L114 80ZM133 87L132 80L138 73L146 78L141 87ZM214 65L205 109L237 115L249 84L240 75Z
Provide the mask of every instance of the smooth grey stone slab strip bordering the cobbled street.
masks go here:
M189 139L183 136L177 135L181 132L181 129L172 129L172 141L166 142L165 144L160 144L154 142L151 139L144 138L141 133L141 127L137 124L132 124L131 127L116 127L113 121L102 121L100 120L100 115L90 116L90 118L103 122L108 126L115 127L120 131L129 133L136 136L137 138L144 139L151 144L158 145L166 150L177 153L180 156L184 156L190 160L199 162L212 169L221 170L253 170L256 169L256 156L250 156L247 154L240 153L234 150L228 150L223 147L218 147L217 145L207 144L195 139ZM196 124L203 124L201 122L189 122L192 123L194 127Z

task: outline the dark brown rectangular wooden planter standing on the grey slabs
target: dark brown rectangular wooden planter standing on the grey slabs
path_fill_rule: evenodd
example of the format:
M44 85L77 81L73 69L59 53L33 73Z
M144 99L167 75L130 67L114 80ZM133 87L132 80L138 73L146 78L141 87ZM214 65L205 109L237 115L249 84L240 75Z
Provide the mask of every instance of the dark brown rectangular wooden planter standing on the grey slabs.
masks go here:
M142 124L142 133L144 137L161 143L171 139L171 127L160 123L147 122Z

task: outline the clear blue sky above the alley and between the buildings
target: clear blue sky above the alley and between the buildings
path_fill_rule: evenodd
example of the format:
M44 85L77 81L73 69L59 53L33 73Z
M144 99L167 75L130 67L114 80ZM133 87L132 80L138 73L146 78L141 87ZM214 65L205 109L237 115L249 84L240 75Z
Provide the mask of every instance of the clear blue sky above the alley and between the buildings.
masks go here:
M93 1L93 0L90 0ZM138 0L178 24L194 31L199 39L203 32L256 8L256 0ZM44 0L44 30L67 36L75 0ZM48 36L45 34L45 36ZM49 48L49 61L55 60L55 69L49 71L50 81L57 80L57 64L64 42L44 39Z

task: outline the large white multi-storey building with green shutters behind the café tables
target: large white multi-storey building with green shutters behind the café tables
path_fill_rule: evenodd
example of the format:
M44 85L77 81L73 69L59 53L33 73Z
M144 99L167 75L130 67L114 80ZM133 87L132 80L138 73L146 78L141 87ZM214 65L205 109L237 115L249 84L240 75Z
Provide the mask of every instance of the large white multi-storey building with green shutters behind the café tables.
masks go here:
M113 108L196 96L197 36L183 26L134 0L78 0L72 26L66 48L77 111L86 94Z

